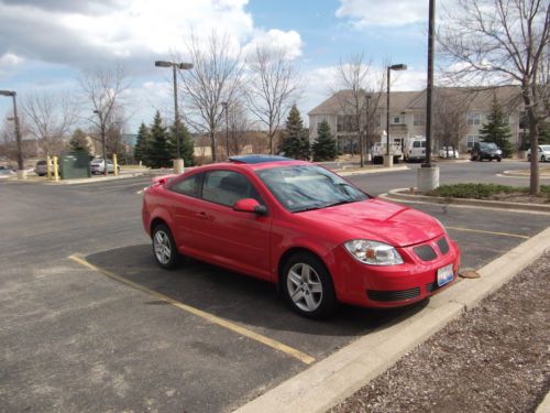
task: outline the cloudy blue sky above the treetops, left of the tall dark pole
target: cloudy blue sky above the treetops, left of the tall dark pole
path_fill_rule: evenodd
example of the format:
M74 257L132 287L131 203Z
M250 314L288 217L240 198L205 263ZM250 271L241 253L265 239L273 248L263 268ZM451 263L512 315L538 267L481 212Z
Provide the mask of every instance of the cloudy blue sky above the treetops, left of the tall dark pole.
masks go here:
M227 33L244 50L287 50L304 78L298 108L307 118L333 88L339 61L358 52L376 70L384 59L409 66L394 90L425 87L427 9L428 0L0 0L0 89L22 101L43 89L76 97L82 68L122 64L135 132L156 109L170 116L169 73L153 62L183 51L194 28ZM0 115L11 116L10 99L0 99Z

